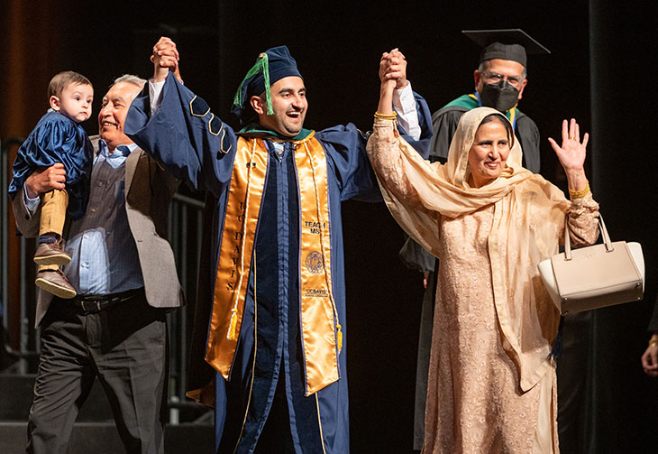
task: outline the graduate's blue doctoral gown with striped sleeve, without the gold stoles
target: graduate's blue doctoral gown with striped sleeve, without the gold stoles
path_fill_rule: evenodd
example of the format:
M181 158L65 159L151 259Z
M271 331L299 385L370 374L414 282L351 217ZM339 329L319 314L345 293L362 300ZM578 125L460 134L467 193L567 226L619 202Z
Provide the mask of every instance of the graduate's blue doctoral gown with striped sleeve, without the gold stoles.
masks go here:
M431 117L425 100L417 95L416 106L423 133L419 142L407 139L426 157L432 135ZM206 260L211 270L206 273L211 283L206 289L214 289L233 157L238 134L242 133L222 123L205 101L195 99L194 93L172 74L164 84L160 109L151 117L149 112L149 90L145 88L133 101L125 123L126 134L179 179L215 196L211 257ZM365 152L366 134L350 124L317 132L315 138L322 144L327 162L334 300L339 320L346 320L341 202L351 198L378 200L379 188ZM265 144L269 165L240 338L229 380L216 375L217 449L252 452L271 414L271 420L287 422L277 429L279 438L291 441L281 448L285 452L345 454L349 452L347 332L343 323L340 379L306 397L299 327L300 210L294 144L285 142L280 154L270 139L266 138ZM254 273L258 276L257 318ZM212 295L212 290L206 293ZM196 308L196 329L202 330L204 337L211 313L203 308L206 305L212 306L212 296L210 301L199 301ZM199 317L199 313L204 316ZM258 336L255 352L254 329ZM254 353L258 358L255 365ZM195 357L202 354L193 353ZM279 431L288 432L288 437Z

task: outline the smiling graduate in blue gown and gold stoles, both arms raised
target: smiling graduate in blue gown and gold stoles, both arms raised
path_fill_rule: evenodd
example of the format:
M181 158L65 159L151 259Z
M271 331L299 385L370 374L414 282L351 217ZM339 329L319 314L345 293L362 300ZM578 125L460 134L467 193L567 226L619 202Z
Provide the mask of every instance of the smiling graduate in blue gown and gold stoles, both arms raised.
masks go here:
M239 131L169 73L173 42L160 39L151 60L154 78L126 130L215 197L209 291L196 308L213 374L195 373L188 395L215 405L219 452L349 452L341 202L379 199L367 135L352 124L303 127L306 87L285 46L261 53L238 88ZM385 53L379 76L397 80L399 123L420 151L430 116L406 65Z

